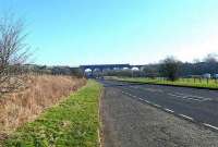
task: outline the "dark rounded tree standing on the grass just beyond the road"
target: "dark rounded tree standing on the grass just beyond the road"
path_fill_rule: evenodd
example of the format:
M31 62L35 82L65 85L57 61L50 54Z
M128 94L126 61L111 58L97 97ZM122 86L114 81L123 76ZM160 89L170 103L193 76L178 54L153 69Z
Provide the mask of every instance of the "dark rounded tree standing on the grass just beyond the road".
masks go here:
M167 77L170 81L175 81L179 77L181 62L173 57L168 57L160 62L160 75Z

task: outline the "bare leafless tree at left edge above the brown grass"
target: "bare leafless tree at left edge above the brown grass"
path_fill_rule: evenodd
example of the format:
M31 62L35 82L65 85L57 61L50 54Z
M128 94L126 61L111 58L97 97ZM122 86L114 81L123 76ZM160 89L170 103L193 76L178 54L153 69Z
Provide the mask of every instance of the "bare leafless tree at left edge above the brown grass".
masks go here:
M13 15L0 17L0 95L16 89L21 81L21 65L29 56L25 44L24 23Z

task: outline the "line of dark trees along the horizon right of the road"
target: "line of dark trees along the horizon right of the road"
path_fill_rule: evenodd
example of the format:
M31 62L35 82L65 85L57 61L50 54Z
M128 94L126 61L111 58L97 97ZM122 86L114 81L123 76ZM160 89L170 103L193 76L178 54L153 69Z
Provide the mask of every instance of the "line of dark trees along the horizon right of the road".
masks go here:
M140 71L120 70L104 73L105 76L128 76L128 77L165 77L175 81L179 77L203 77L204 74L218 74L217 54L209 53L202 61L182 62L174 57L167 57L156 64L146 64ZM217 78L217 77L216 77Z

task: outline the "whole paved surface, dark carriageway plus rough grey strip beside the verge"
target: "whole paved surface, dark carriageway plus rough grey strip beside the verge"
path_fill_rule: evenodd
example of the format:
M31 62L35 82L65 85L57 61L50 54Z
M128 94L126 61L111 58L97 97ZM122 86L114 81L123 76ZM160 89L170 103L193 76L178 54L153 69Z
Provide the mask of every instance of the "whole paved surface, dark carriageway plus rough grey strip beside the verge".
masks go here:
M99 82L105 146L218 146L218 91Z

